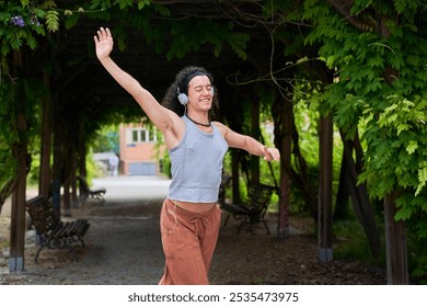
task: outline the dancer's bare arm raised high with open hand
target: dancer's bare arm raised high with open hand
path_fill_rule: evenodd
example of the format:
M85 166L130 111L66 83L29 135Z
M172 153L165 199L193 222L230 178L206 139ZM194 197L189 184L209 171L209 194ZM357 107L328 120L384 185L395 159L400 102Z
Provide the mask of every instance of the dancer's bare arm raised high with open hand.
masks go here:
M109 57L114 45L109 29L101 27L93 39L95 41L96 56L108 73L134 96L150 121L163 134L171 130L178 116L159 104L149 91L143 89L134 77L122 70Z

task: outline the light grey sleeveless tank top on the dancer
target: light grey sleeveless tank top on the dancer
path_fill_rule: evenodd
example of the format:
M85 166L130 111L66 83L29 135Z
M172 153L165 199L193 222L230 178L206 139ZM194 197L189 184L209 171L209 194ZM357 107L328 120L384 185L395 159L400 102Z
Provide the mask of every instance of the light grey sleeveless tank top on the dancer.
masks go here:
M205 133L186 116L181 118L185 122L185 134L181 143L169 150L172 182L168 197L181 202L215 203L229 146L215 125L212 133Z

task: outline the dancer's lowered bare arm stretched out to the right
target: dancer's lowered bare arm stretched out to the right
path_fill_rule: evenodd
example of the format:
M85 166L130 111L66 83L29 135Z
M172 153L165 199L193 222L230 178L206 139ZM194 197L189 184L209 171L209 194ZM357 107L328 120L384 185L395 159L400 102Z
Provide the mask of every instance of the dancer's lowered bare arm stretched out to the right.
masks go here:
M230 147L243 149L251 155L264 157L264 160L266 161L280 160L280 152L277 148L267 147L253 137L238 134L221 123L216 122L215 125L221 132Z

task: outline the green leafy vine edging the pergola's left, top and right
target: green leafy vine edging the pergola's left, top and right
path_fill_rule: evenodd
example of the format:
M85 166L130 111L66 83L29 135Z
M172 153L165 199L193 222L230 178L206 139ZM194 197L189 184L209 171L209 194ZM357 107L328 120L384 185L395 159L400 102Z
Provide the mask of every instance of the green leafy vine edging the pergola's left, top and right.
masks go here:
M183 58L206 45L212 47L212 58L229 47L240 59L247 59L251 36L238 29L238 23L194 16L172 20L170 8L161 2L0 1L1 185L14 175L12 146L36 134L41 121L37 107L51 94L43 82L44 73L55 73L49 52L58 48L61 34L82 23L114 23L119 50L129 46L131 27L143 34L140 39L164 54L165 60ZM396 219L408 225L413 272L425 276L427 5L416 0L268 0L262 4L263 15L245 16L269 33L266 42L272 46L272 57L265 61L285 58L289 61L278 60L281 68L298 65L304 70L304 64L315 59L336 72L335 81L323 83L310 101L323 114L331 112L335 125L348 137L363 125L365 169L359 182L367 184L372 198L399 194ZM278 43L286 48L275 49ZM93 57L93 48L79 56L69 58L68 67ZM280 69L273 69L275 65L272 61L270 73L263 81L273 81L280 90L280 82L293 87L295 80L277 79ZM304 76L315 75L308 71ZM16 130L18 111L24 112L31 124L25 134ZM107 123L107 116L96 120ZM99 124L89 127L93 133Z

